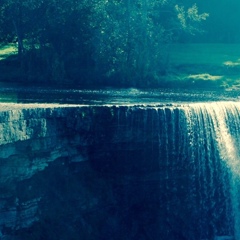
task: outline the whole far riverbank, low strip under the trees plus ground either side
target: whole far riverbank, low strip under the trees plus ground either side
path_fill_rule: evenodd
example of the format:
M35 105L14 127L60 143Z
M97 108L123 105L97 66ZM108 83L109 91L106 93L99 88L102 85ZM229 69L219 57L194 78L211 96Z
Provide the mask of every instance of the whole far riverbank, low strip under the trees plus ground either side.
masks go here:
M156 79L147 79L148 83L143 83L142 87L240 89L240 44L173 44L169 49L166 74L157 76ZM18 61L17 48L14 44L0 46L0 72L2 83L30 86L61 84L80 88L122 87L118 79L99 76L96 80L91 69L84 71L78 69L74 81L65 79L50 83L44 77L44 72L34 73L35 77L29 76L29 72ZM130 83L128 87L136 86L134 84L131 86Z

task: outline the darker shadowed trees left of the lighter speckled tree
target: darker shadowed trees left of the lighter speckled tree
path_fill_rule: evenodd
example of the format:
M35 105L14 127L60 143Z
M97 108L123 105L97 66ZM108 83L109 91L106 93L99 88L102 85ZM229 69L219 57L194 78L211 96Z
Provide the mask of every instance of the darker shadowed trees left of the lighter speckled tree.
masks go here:
M29 80L71 81L75 77L71 72L92 64L87 43L90 8L86 0L0 3L2 41L17 39L19 60Z

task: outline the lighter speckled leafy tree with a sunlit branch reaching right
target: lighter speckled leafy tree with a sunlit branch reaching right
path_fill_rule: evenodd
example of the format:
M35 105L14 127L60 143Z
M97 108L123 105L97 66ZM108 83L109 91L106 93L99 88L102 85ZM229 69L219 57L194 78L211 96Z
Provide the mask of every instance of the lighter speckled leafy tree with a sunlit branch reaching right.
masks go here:
M94 59L107 76L145 84L164 74L168 45L180 31L194 34L207 14L167 0L98 1L94 6ZM94 21L95 19L95 21Z

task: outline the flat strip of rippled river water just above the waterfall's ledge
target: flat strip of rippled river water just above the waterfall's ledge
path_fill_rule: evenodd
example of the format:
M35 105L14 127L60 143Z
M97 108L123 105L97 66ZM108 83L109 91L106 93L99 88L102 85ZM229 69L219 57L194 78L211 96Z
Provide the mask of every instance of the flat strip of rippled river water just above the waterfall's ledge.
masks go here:
M172 89L54 89L3 87L1 102L14 103L64 103L83 105L139 105L209 101L237 101L237 91L172 90Z

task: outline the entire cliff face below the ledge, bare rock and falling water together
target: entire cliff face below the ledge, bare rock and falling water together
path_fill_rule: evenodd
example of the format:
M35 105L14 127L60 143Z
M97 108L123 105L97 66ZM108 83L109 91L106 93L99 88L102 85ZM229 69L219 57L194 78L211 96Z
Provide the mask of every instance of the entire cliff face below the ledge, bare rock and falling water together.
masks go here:
M240 103L0 109L0 239L240 239Z

